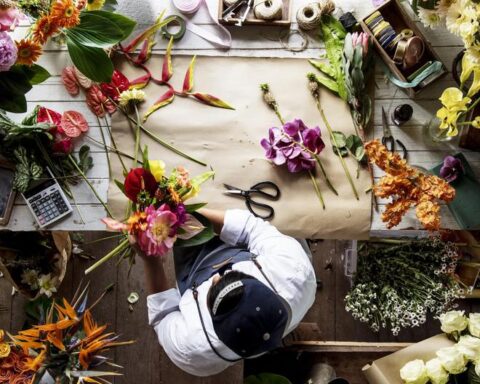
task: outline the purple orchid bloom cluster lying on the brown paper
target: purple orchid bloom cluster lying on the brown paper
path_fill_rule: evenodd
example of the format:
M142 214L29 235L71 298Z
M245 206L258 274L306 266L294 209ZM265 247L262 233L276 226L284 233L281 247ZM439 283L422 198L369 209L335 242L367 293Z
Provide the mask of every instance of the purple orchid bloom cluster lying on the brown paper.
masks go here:
M260 144L267 159L276 165L286 164L292 173L315 168L313 154L319 154L325 148L320 128L308 128L300 119L286 123L281 129L270 128L268 138Z

